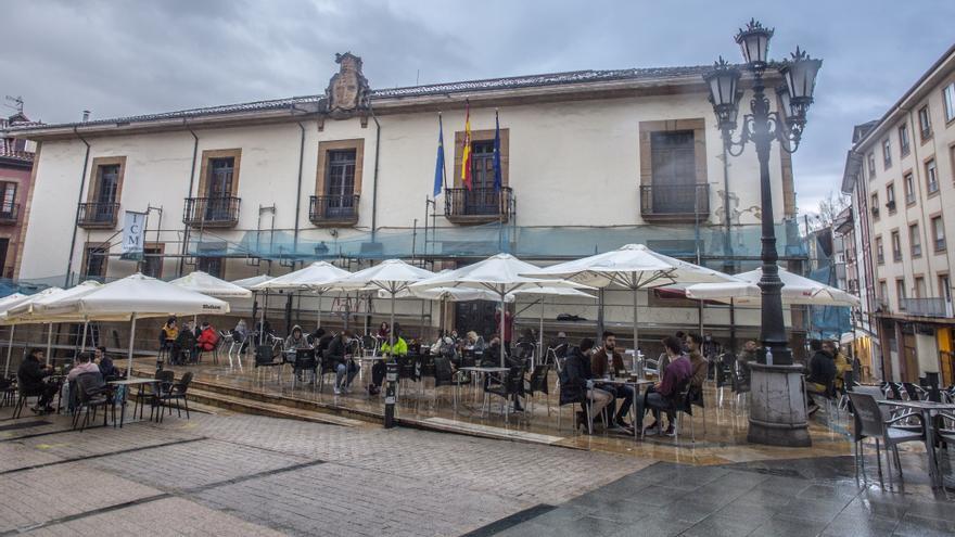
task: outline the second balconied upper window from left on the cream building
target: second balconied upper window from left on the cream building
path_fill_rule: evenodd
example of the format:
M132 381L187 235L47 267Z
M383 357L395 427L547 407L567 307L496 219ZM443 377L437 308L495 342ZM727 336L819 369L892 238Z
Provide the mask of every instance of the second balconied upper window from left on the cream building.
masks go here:
M199 196L186 200L184 223L202 228L231 228L239 223L241 158L241 149L202 152Z

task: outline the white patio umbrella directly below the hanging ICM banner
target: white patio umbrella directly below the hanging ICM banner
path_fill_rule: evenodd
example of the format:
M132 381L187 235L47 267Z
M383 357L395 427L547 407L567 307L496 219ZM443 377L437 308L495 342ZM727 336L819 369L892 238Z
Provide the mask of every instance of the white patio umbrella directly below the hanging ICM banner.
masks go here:
M122 318L130 321L127 375L132 372L137 319L170 315L228 314L229 303L178 285L136 273L107 283L77 298L58 303L68 315L90 320Z

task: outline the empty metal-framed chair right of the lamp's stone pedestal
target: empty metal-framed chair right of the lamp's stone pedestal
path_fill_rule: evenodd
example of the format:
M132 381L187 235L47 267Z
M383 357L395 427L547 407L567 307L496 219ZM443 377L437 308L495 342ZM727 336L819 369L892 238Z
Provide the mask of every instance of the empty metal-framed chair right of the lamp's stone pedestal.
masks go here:
M855 427L853 432L853 442L855 444L855 470L856 478L858 478L860 466L862 466L862 476L865 481L865 452L863 449L865 438L871 437L876 440L876 461L879 465L879 483L882 484L882 455L881 445L886 446L886 469L889 473L889 485L892 485L892 457L889 456L891 449L894 453L895 465L899 469L899 476L902 476L902 460L899 458L899 444L906 442L924 442L922 432L909 431L907 429L897 427L893 423L917 418L921 421L918 412L903 412L895 417L887 412L879 406L879 402L871 395L857 392L850 392L849 399L852 408L855 410ZM929 455L932 457L932 455Z

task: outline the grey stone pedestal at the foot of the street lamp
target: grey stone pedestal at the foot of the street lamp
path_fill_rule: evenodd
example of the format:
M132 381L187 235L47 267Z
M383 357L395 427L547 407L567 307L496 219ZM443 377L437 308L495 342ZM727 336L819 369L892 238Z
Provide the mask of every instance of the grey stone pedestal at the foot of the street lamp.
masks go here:
M810 447L802 366L750 363L750 429L752 444Z

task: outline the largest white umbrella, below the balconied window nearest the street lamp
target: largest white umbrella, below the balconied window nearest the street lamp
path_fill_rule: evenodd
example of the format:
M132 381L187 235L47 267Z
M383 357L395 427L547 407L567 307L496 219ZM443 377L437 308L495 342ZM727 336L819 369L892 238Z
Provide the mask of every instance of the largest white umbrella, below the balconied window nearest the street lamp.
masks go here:
M658 254L644 244L627 244L612 252L527 272L526 276L563 278L591 287L617 286L633 291L635 363L640 341L637 291L673 283L733 281L728 274Z

